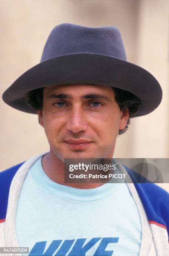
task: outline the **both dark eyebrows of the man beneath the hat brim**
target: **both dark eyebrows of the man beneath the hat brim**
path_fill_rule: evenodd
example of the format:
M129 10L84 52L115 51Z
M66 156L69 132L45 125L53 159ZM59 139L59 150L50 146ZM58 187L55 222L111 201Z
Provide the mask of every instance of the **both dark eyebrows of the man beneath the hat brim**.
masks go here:
M63 94L63 93L60 93L60 94L56 94L56 93L53 93L51 95L49 95L47 97L47 99L60 99L60 100L63 100L63 99L73 99L73 95L70 95L70 94ZM90 94L86 94L86 95L82 95L80 97L81 100L95 100L95 99L103 99L103 100L111 100L109 97L107 97L106 95L104 94L97 94L97 93L90 93Z

